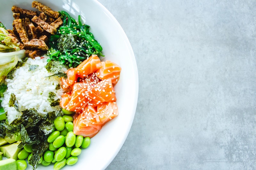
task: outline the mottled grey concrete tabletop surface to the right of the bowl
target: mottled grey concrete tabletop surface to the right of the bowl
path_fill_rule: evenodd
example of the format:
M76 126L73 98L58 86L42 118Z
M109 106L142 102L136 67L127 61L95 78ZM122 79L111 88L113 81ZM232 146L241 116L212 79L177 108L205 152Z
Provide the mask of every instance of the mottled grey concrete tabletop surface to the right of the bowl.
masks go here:
M127 34L140 81L107 170L256 169L256 1L99 2Z

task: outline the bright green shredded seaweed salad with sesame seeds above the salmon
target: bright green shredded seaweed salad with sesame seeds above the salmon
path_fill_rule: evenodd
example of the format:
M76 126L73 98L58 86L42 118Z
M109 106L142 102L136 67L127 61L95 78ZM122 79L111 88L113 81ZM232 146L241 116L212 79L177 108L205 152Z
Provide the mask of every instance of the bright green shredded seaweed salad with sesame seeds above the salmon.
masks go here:
M103 56L100 43L90 33L90 26L82 24L80 15L76 22L66 11L59 13L63 24L49 38L48 61L56 60L68 67L77 67L92 54Z

